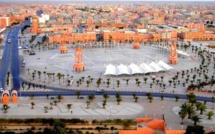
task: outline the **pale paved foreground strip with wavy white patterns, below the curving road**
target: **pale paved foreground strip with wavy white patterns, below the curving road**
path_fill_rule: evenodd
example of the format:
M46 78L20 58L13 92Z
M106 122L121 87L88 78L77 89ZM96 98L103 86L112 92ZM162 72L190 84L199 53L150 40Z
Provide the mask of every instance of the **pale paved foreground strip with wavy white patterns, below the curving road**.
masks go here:
M8 113L0 111L1 118L81 118L86 120L104 120L121 118L127 119L136 117L153 117L162 118L162 113L165 115L166 125L169 129L182 129L187 125L192 124L190 120L184 120L184 126L181 126L181 119L178 114L178 106L180 106L185 100L179 99L175 102L174 99L164 98L161 101L160 98L154 98L152 103L149 103L146 97L139 97L138 102L135 103L133 97L122 96L122 102L117 105L114 96L111 96L107 101L105 109L102 108L103 97L96 96L96 99L91 102L89 109L86 108L86 97L84 99L77 99L73 97L64 97L64 99L57 103L57 106L53 106L53 110L50 110L50 102L52 99L46 99L46 97L35 97L33 100L28 97L21 98L17 104L9 104ZM31 102L35 103L34 109L31 109ZM72 104L71 109L67 109L67 104ZM44 106L48 106L48 113L44 112ZM163 109L162 109L163 106ZM0 104L2 107L2 104ZM208 109L212 110L212 104L207 103ZM71 113L72 111L72 113ZM213 109L213 111L215 111ZM215 116L213 120L208 120L204 114L200 124L204 125L206 130L215 130Z

